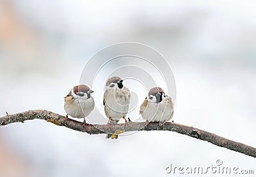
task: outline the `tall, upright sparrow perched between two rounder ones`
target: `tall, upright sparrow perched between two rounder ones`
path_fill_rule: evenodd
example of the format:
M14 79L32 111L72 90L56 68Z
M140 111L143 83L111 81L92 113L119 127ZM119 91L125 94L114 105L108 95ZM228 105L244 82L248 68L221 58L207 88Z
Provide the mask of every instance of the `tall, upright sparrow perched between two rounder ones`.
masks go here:
M125 116L129 110L130 90L124 87L123 80L118 76L113 76L106 81L105 90L103 105L108 117L108 129L110 130L110 124L117 124L121 118L124 118L127 125ZM111 134L107 134L106 138L110 137Z

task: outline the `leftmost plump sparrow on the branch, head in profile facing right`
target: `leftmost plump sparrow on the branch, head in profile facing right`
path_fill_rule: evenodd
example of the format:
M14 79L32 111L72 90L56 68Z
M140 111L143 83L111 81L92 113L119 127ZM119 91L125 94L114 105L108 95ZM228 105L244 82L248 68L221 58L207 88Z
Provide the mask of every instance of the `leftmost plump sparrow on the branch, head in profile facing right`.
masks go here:
M70 90L64 97L64 110L67 113L65 121L70 115L74 118L84 118L83 125L86 124L85 117L90 115L95 105L92 93L93 90L86 85L77 85Z

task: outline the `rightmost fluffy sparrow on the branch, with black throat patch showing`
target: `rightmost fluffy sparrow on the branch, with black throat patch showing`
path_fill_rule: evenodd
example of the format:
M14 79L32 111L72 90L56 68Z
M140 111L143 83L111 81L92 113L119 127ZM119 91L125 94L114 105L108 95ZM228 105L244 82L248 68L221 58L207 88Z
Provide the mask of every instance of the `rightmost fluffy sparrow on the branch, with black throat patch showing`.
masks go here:
M146 120L146 127L149 124L148 121L164 125L173 117L172 97L164 94L160 87L151 88L140 106L140 114Z

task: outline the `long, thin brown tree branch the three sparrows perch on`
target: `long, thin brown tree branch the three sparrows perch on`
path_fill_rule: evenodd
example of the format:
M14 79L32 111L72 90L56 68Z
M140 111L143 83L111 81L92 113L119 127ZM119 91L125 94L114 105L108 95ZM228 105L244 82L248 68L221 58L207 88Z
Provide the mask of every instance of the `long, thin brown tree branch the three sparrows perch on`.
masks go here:
M164 127L159 125L157 122L150 122L147 127L145 127L145 122L129 122L127 126L125 126L125 124L114 124L111 125L111 131L109 131L107 125L86 124L83 126L81 122L77 122L76 120L72 119L68 119L68 121L65 122L65 117L56 113L52 113L51 111L33 110L1 117L0 126L12 124L15 122L33 120L35 118L46 120L47 122L51 122L56 125L65 126L75 131L87 132L88 134L120 134L122 132L130 131L173 131L180 134L185 134L192 138L208 141L209 143L212 143L216 146L221 146L229 150L256 157L256 148L253 148L252 146L237 143L236 141L223 138L216 134L212 134L211 132L202 131L200 129L196 129L194 127L189 127L186 125L175 124L173 122L166 122L166 124L164 124Z

